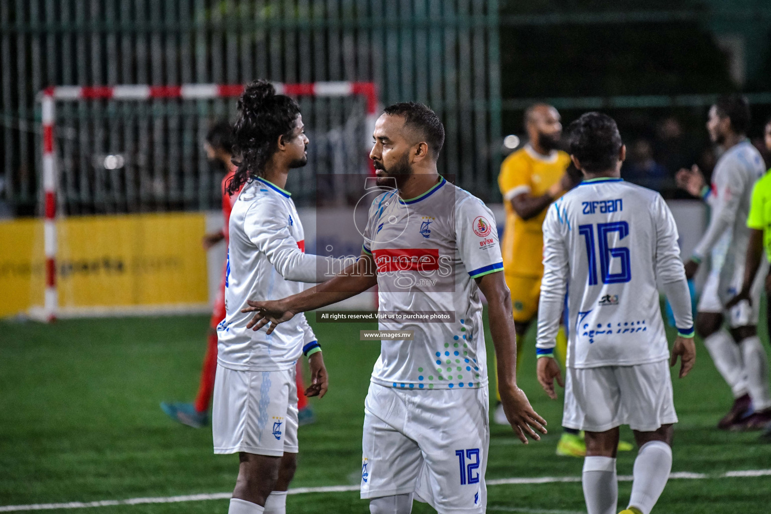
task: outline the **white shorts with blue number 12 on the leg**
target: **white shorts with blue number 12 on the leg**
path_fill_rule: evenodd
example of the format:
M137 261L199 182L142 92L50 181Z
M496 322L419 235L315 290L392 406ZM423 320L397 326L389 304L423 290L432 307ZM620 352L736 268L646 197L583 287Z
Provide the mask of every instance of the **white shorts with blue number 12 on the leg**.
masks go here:
M362 498L416 493L439 514L482 514L490 445L487 387L405 391L370 383Z

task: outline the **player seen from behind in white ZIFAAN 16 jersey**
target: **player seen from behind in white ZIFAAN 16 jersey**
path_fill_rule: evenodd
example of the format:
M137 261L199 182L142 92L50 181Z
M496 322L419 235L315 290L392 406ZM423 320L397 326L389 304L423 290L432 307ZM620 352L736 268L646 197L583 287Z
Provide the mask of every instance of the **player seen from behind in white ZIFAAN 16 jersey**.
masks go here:
M661 195L620 178L626 148L610 116L587 113L570 127L571 159L585 180L557 200L544 220L544 280L538 307L537 375L551 398L567 292L562 425L586 432L582 482L588 514L614 514L618 427L639 447L622 514L649 514L672 469L669 351L657 282L678 327L671 365L680 377L695 361L691 298L675 220Z

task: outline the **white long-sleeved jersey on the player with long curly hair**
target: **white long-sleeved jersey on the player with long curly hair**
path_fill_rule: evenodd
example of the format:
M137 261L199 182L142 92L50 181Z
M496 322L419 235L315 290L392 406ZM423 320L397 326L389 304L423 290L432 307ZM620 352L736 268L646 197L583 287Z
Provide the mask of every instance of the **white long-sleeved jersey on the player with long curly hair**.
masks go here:
M291 195L258 178L248 182L231 213L225 309L217 326L217 361L234 370L274 371L295 365L304 344L315 341L305 314L272 334L246 328L247 300L278 300L298 294L301 282L323 281L328 259L305 254L305 233Z

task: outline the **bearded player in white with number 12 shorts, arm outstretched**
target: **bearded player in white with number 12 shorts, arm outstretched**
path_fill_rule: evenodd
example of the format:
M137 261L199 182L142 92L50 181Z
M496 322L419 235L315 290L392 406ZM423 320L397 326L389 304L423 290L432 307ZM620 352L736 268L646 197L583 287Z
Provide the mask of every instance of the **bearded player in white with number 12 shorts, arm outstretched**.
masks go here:
M436 171L444 127L414 102L385 109L375 125L379 194L369 209L361 257L316 287L274 302L250 302L255 329L379 287L379 311L453 311L451 322L381 321L412 331L382 341L365 401L362 499L372 514L409 514L412 499L439 514L485 512L490 439L487 354L480 292L488 301L507 418L523 442L546 433L517 387L511 299L493 214ZM362 179L363 182L363 179ZM278 328L281 324L278 324ZM531 428L533 427L533 428ZM534 430L535 428L535 430Z

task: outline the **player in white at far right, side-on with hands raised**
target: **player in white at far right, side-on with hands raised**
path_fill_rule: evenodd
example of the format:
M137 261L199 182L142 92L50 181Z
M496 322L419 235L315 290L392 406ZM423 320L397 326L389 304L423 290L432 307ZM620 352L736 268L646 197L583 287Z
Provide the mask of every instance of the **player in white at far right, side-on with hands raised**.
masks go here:
M685 274L692 278L702 260L711 257L696 331L733 393L731 410L718 422L718 428L732 430L759 430L771 422L768 358L757 334L767 263L752 286L752 301L741 301L729 310L725 307L742 289L752 186L766 169L763 157L746 137L748 128L747 100L723 96L709 109L707 122L712 143L723 151L712 172L712 186L705 185L698 166L680 170L676 176L679 186L702 197L712 211L707 231L685 263ZM729 330L723 328L724 321Z

